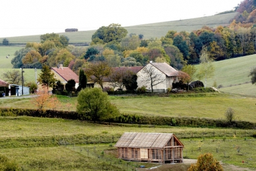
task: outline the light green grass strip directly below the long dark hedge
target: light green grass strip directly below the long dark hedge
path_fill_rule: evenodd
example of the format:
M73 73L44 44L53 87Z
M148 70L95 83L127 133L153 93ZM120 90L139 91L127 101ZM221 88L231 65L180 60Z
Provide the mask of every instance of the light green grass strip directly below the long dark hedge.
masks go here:
M78 120L64 120L61 118L36 118L28 116L16 117L0 117L0 139L16 138L16 137L72 137L85 139L89 136L90 142L100 143L97 136L102 136L103 140L112 141L118 139L124 132L162 132L174 133L178 137L232 137L236 134L238 137L244 137L256 134L255 130L234 130L234 129L213 129L213 128L186 128L172 126L148 126L138 124L120 124L119 126L109 124L95 124L91 122L81 122ZM84 136L83 136L84 135ZM73 139L73 141L75 141ZM18 141L18 139L16 140ZM20 141L23 141L22 139ZM71 141L71 140L70 140ZM25 141L24 144L16 144L15 146L32 146L33 140ZM30 144L31 143L31 144ZM5 144L5 145L4 145ZM42 146L49 145L42 143ZM9 147L8 142L1 141L1 147ZM22 146L22 147L23 147Z

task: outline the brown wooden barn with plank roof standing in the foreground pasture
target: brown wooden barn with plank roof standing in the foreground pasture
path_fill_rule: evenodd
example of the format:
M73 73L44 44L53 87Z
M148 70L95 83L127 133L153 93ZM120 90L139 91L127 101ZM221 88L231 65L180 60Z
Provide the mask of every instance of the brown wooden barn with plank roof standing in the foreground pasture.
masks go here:
M123 160L183 162L184 145L174 134L126 132L115 147Z

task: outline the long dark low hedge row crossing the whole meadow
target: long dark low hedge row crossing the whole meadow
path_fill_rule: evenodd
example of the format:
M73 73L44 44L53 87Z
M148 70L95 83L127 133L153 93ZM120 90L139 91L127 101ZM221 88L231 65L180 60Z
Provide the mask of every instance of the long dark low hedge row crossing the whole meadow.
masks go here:
M87 120L90 118L80 116L75 111L63 110L36 110L36 109L0 109L0 116L33 116L45 118L64 118L70 120ZM101 122L113 122L123 124L147 124L156 126L188 126L200 128L240 128L255 129L256 124L246 121L234 121L232 123L227 120L214 120L209 118L197 117L167 117L167 116L141 116L138 114L120 114L116 118L108 120L100 120Z

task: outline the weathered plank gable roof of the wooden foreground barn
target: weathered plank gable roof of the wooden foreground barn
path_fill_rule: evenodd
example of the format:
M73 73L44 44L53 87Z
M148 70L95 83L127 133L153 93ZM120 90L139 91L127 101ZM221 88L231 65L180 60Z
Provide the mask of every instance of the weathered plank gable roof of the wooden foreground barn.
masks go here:
M138 133L125 132L117 141L116 147L143 147L143 148L163 148L174 134L167 133ZM175 139L177 139L175 137ZM178 139L177 139L178 140ZM180 141L180 145L184 146Z

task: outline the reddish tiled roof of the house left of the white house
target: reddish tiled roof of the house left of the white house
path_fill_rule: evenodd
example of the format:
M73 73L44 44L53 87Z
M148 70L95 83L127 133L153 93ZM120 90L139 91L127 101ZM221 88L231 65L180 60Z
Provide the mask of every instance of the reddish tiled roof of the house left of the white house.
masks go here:
M76 73L74 73L74 71L72 71L70 68L68 67L53 67L51 68L52 70L54 70L55 72L57 72L57 74L59 74L64 80L66 80L66 82L68 80L73 79L76 83L79 83L79 77L78 75L76 75Z

